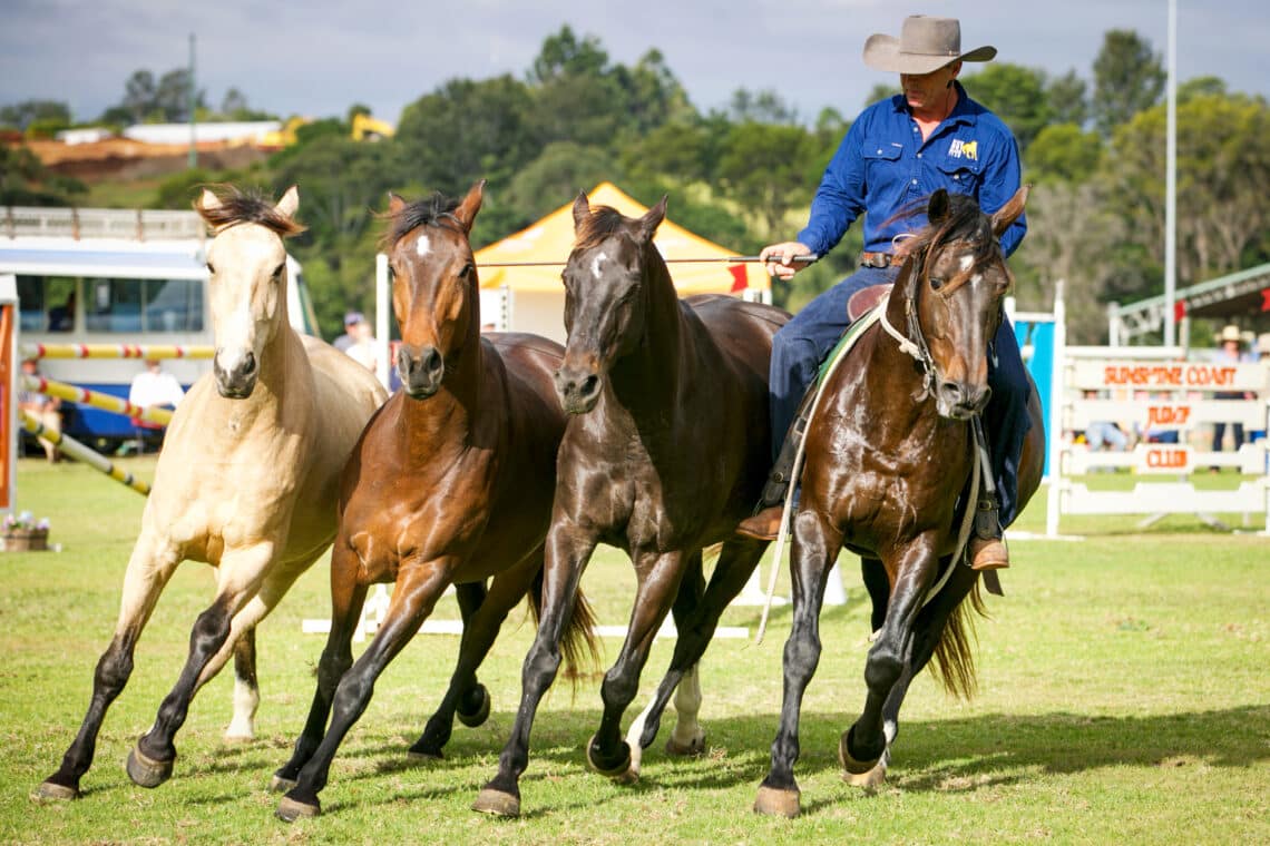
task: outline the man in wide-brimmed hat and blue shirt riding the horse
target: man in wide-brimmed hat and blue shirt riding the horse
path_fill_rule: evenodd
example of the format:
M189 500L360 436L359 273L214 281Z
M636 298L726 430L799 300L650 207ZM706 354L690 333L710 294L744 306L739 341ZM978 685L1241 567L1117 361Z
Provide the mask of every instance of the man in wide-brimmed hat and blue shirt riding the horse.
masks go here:
M1019 145L994 114L970 99L958 82L963 62L986 62L996 47L961 49L961 24L955 18L911 15L899 38L875 34L865 42L865 65L899 74L902 94L866 108L851 124L824 171L812 200L806 227L794 241L773 244L759 254L768 273L790 279L805 263L798 256L823 256L861 214L865 251L859 268L845 280L808 303L773 339L771 360L772 454L782 450L799 402L812 387L817 369L846 330L847 301L870 285L892 283L899 275L895 241L926 223L923 213L895 219L909 203L936 189L969 194L984 212L999 209L1019 190ZM1001 236L1010 255L1027 231L1026 217ZM1013 327L1002 321L993 340L996 367L989 369L992 401L984 422L992 446L993 476L999 496L996 529L970 542L972 566L993 569L1010 564L999 525L1015 517L1017 467L1027 433L1027 375ZM782 474L784 471L784 474ZM780 479L789 468L773 468L772 481L753 517L738 531L773 538L780 529L784 491Z

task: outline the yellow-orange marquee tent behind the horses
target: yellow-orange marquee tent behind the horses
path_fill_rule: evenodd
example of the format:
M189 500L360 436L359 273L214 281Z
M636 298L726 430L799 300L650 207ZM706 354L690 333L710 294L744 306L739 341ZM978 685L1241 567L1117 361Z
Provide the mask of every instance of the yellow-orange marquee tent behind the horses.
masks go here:
M627 217L648 212L612 183L601 183L587 194L592 205L611 205ZM671 212L674 203L671 203ZM693 235L669 217L658 227L653 244L667 259L725 259L735 251ZM573 203L551 212L527 230L511 235L476 251L480 273L484 320L498 329L537 332L564 340L564 285L560 271L573 249ZM497 266L522 261L559 263L538 266ZM671 277L681 297L702 293L742 293L762 296L771 280L757 263L704 261L671 265ZM500 292L495 293L495 292ZM502 293L505 292L505 293ZM494 294L490 297L490 294ZM499 301L499 296L502 299ZM490 307L502 315L490 315Z

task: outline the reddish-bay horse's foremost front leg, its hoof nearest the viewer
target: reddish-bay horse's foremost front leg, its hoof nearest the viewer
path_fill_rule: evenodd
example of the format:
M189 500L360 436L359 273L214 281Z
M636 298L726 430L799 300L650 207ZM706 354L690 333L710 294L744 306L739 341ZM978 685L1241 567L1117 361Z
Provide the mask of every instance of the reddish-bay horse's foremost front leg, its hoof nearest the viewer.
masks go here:
M318 794L326 786L330 764L339 745L362 717L375 693L375 681L384 668L405 648L432 613L448 585L455 561L441 558L428 562L403 562L398 571L392 600L384 623L366 652L353 662L335 686L330 727L312 757L300 769L296 785L278 802L276 816L284 822L321 813Z

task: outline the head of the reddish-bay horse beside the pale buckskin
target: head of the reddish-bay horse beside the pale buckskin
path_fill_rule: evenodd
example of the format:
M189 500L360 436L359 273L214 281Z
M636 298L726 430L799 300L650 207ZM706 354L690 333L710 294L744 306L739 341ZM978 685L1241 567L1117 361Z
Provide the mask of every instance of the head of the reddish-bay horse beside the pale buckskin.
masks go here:
M469 242L485 180L462 200L441 194L406 203L389 195L384 237L392 273L392 311L401 330L396 354L401 389L427 400L439 388L446 360L476 337L480 284Z

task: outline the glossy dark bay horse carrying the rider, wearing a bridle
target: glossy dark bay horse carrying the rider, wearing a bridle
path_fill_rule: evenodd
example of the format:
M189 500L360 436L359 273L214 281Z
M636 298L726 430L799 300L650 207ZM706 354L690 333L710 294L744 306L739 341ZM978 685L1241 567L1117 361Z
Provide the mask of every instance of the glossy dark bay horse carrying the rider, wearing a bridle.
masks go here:
M960 534L955 512L959 497L966 500L978 455L972 425L988 401L988 341L1011 284L997 236L1025 202L1021 189L989 218L973 199L936 192L930 226L906 247L884 320L860 336L829 377L806 431L790 559L794 618L785 643L785 701L756 810L799 813L799 709L820 656L826 578L843 547L864 557L866 577L884 568L890 586L889 599L874 596L875 619L885 619L865 666L864 713L838 745L847 774L865 785L885 778L904 694L932 656L945 687L973 690L961 601L970 595L975 609L982 605L978 573L952 562ZM1027 411L1020 510L1041 473L1035 388ZM946 583L930 596L949 567Z

